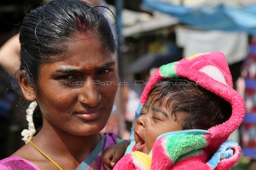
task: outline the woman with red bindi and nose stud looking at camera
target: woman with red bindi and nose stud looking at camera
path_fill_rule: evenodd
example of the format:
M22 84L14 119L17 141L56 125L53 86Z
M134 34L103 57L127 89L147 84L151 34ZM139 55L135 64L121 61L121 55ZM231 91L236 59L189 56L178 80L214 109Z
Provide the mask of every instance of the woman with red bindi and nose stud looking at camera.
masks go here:
M52 1L26 15L20 44L18 80L37 103L36 132L0 169L102 169L102 149L116 143L99 134L118 84L108 20L83 1Z

